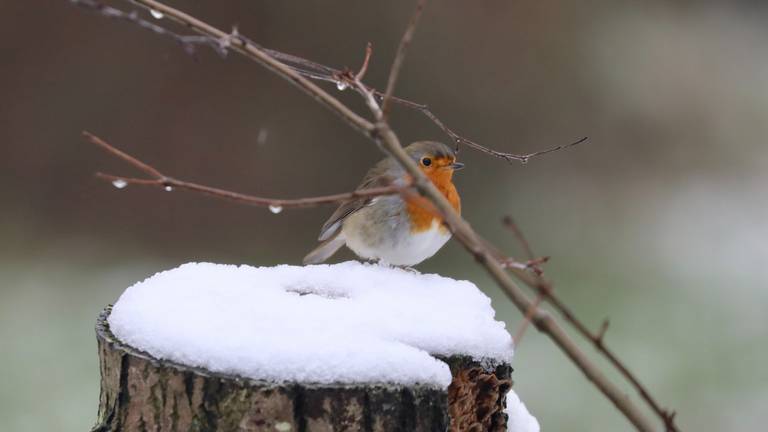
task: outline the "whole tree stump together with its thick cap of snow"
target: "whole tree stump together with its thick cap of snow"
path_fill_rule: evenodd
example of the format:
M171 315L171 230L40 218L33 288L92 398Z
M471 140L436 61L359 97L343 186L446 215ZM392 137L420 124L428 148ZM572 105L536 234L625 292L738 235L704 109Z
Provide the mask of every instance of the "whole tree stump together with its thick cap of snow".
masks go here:
M512 340L467 281L185 264L128 288L96 334L94 431L507 430Z

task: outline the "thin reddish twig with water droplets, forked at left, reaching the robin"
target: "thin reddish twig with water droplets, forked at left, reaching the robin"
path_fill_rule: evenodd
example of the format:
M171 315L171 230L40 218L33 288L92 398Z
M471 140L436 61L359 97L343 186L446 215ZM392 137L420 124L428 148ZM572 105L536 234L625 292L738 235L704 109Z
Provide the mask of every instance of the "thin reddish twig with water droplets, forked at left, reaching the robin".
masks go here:
M238 192L232 192L225 189L214 188L197 183L188 182L185 180L179 180L163 174L155 167L143 162L134 156L131 156L122 150L107 143L103 139L93 135L90 132L83 131L83 136L93 144L98 145L108 153L114 155L118 159L121 159L130 165L134 166L139 171L145 173L150 178L135 178L119 176L114 174L96 173L96 176L107 180L112 183L118 189L123 189L128 185L139 186L152 186L162 188L168 192L173 190L187 190L190 192L197 192L204 195L208 195L214 198L224 199L227 201L233 201L239 204L246 204L258 207L268 207L272 213L280 213L285 208L306 208L315 207L326 204L339 204L346 201L358 199L358 198L373 198L382 195L395 195L395 194L409 194L412 193L410 185L405 186L382 186L378 188L356 190L352 192L339 193L334 195L324 195L308 198L263 198L253 195L242 194Z

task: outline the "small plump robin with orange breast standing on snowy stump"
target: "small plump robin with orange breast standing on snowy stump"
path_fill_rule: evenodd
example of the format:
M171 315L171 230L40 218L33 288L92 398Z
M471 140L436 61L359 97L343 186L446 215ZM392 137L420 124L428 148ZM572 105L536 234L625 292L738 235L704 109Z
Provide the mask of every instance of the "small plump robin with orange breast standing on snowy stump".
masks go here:
M461 198L453 174L464 167L456 151L436 141L417 141L405 147L421 171L461 213ZM388 185L406 186L410 176L393 158L374 165L358 190ZM358 257L399 267L430 258L451 238L451 232L424 197L412 194L363 197L342 203L320 229L320 245L304 264L320 264L346 245Z

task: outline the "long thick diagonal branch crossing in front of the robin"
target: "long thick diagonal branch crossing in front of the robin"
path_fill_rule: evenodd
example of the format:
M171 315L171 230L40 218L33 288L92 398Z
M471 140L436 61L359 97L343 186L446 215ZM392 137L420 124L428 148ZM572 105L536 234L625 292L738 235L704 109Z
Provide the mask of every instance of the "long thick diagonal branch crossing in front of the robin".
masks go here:
M134 3L142 5L146 8L153 9L158 11L159 13L162 13L165 17L178 22L185 26L186 28L190 28L194 31L197 31L203 35L209 36L211 38L214 38L215 40L223 40L224 38L230 38L230 35L227 35L221 30L218 30L209 24L202 22L184 12L181 12L177 9L174 9L170 6L167 6L163 3L154 1L154 0L133 0ZM356 130L364 133L366 136L370 137L371 139L375 140L380 147L382 147L388 154L390 154L391 157L393 157L405 170L410 176L413 178L413 185L421 192L426 198L428 198L432 203L434 204L437 211L439 211L443 215L443 219L445 223L449 226L451 231L453 232L455 238L464 245L465 249L475 258L478 263L480 263L485 269L488 271L488 273L493 277L493 279L497 282L497 284L504 290L504 292L507 294L507 296L510 298L510 300L515 304L515 306L520 311L529 311L532 306L532 302L528 299L528 297L525 295L525 293L520 289L520 287L512 280L510 275L505 270L505 266L502 265L501 262L499 262L493 255L493 253L485 246L487 244L486 241L484 241L480 236L478 236L474 230L469 226L469 224L464 221L458 213L456 213L453 210L453 207L450 205L450 203L446 200L446 198L437 190L434 184L432 184L429 179L426 178L426 176L419 170L417 165L413 160L410 159L410 157L405 153L402 146L400 145L400 141L397 137L397 135L392 131L389 124L386 122L386 119L383 116L383 113L378 106L378 103L376 101L376 96L380 95L380 93L377 93L374 89L362 85L360 80L356 80L356 88L358 91L360 91L364 97L366 98L366 102L369 105L369 108L371 108L372 112L374 113L374 116L376 117L376 122L371 123L367 120L363 119L362 117L358 116L354 112L352 112L346 105L342 104L340 101L338 101L333 96L330 96L327 92L322 90L321 88L317 87L313 83L309 82L305 76L303 75L302 71L299 70L299 68L307 68L308 72L312 75L307 74L307 77L315 78L315 79L322 79L322 80L332 80L329 79L328 76L323 76L324 72L321 73L320 69L322 68L316 68L316 67L308 67L309 62L297 62L296 65L289 65L286 63L283 63L282 61L278 60L276 56L271 55L269 52L265 51L263 48L259 47L256 44L251 43L247 39L241 36L237 37L231 37L231 49L235 50L249 58L252 58L271 70L272 72L276 73L278 76L286 79L288 82L292 83L305 93L307 93L310 97L321 103L322 105L326 106L333 112L335 112L337 115L339 115L344 121L346 121L350 126L355 128ZM287 61L287 60L286 60ZM402 60L401 60L402 61ZM336 79L336 76L333 76L332 78ZM396 77L395 77L396 78ZM390 81L396 82L396 79L390 76ZM381 95L382 98L384 98L386 95ZM392 97L392 101L396 102L398 99ZM404 100L402 100L404 101ZM403 103L403 102L400 102ZM414 108L415 106L419 106L418 104L405 101L405 105L411 106ZM420 109L425 115L430 117L436 124L441 125L442 122L437 120L437 117L434 115L430 115L431 111L429 111L426 106L424 106L423 109ZM427 114L429 113L429 114ZM443 125L443 128L445 131L450 131L450 129L446 128ZM452 131L451 131L452 132ZM449 134L451 135L451 134ZM509 154L497 152L495 150L488 149L486 147L483 147L479 144L472 143L469 140L464 140L458 135L451 135L454 141L461 142L464 144L469 145L472 148L478 149L480 151L486 152L488 154L491 154L496 157L500 157L502 159L506 159L508 161L511 160L518 160L520 162L526 162L528 159L541 155L546 154L552 151L555 151L560 148L569 147L575 144L578 144L580 142L583 142L585 139L579 140L576 143L572 143L565 146L558 146L553 149L544 150L541 152L531 153L529 155L513 155L510 156ZM167 177L166 177L167 178ZM540 292L546 293L546 290L548 289L549 285L546 284L546 281L544 281L540 276L532 275L530 272L527 271L527 269L517 268L517 267L507 267L510 268L515 275L517 275L523 282L526 284L540 290ZM547 299L551 302L551 299L554 299L555 297L547 297ZM560 309L561 313L563 313L563 310L567 309ZM568 319L568 318L566 318ZM655 427L650 423L650 421L645 417L645 415L635 406L635 404L629 400L626 395L622 393L622 391L615 386L610 380L608 380L605 375L599 370L599 368L590 360L588 359L579 349L579 347L574 343L573 340L569 338L569 336L563 331L563 329L557 324L557 322L548 314L546 314L543 311L536 311L533 314L532 322L536 325L536 327L543 332L544 334L548 335L552 341L573 361L573 363L585 374L585 376L592 381L595 386L609 399L613 402L613 404L621 411L627 419L635 425L635 427L640 431L653 431L655 430ZM574 318L575 320L575 318ZM569 320L570 322L571 320ZM576 321L578 322L578 321ZM584 328L586 330L586 328ZM587 334L588 331L587 331ZM606 350L607 353L610 353ZM609 355L609 354L606 354ZM610 358L610 357L609 357ZM616 361L618 363L618 361ZM618 363L623 367L621 363ZM618 367L618 366L617 366ZM626 371L628 374L628 371ZM631 374L629 374L631 376ZM634 385L639 386L639 383L633 382ZM642 387L639 387L642 388ZM646 392L642 392L642 395L644 398L650 398L649 395L646 394ZM647 399L646 399L647 400ZM673 415L670 415L669 417L662 417L662 419L665 420L665 424L668 425L666 419L669 418L672 419ZM674 428L672 430L675 430Z

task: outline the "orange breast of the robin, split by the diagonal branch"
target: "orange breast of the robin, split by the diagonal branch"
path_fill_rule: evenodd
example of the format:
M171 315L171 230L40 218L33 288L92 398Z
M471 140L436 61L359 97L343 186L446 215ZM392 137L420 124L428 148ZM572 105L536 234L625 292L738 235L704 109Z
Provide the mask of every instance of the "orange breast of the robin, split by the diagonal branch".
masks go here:
M453 184L452 170L439 170L426 172L427 177L437 186L437 189L445 196L453 209L461 214L461 199ZM411 221L411 232L422 232L433 227L435 220L440 223L440 229L447 230L443 224L440 212L429 201L420 195L406 198L406 211Z

